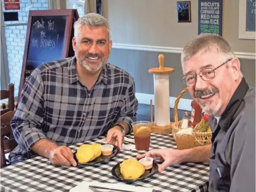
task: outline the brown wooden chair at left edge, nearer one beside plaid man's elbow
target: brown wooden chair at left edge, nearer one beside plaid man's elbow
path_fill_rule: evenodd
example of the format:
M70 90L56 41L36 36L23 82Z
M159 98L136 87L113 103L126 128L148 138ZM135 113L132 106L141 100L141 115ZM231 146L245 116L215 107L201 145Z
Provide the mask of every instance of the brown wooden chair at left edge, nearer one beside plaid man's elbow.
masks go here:
M11 152L17 146L10 125L14 114L15 111L9 111L1 115L1 168L8 163L5 154Z

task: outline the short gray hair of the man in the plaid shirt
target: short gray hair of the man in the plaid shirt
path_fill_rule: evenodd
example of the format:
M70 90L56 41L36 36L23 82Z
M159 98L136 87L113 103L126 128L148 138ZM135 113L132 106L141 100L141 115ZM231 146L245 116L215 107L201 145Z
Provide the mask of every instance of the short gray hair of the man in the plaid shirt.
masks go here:
M111 27L107 19L97 13L88 13L80 17L74 23L74 37L77 40L82 26L105 26L107 28L108 40L111 40Z

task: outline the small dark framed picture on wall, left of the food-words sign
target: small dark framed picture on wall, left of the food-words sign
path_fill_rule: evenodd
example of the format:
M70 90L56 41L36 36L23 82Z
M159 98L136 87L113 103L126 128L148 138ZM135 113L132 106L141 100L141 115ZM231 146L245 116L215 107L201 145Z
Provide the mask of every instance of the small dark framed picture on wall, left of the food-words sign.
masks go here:
M177 17L178 17L178 22L191 22L191 2L190 1L177 2Z

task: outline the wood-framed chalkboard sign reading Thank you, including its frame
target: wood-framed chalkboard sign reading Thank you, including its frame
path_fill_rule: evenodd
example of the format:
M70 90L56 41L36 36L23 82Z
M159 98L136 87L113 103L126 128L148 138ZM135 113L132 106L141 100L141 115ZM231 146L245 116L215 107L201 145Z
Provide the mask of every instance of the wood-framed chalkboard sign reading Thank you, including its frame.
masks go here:
M74 56L73 24L78 17L76 9L30 11L18 101L25 81L35 68Z

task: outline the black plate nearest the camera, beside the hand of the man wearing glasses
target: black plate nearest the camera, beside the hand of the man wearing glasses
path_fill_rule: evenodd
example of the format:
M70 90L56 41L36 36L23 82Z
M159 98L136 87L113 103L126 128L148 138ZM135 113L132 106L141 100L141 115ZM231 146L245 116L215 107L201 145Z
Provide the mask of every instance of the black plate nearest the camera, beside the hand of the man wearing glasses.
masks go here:
M142 179L146 179L151 175L154 175L157 170L158 170L158 164L155 163L155 161L153 161L153 167L151 169L145 170L145 173L143 175L141 175L138 179L125 179L124 176L122 176L121 172L120 172L120 164L122 162L116 164L113 168L112 168L112 175L118 179L118 180L122 180L122 181L138 181L138 180L142 180Z

